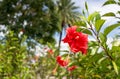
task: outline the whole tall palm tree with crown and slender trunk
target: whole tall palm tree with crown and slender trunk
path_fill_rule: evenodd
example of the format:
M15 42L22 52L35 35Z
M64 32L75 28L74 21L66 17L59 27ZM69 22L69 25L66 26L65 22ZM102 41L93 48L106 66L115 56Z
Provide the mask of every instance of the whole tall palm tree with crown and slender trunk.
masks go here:
M78 7L75 6L75 2L72 0L58 0L57 1L57 12L60 16L60 36L59 36L59 45L58 50L61 46L63 29L67 26L71 26L76 20L79 19L79 12L77 11Z

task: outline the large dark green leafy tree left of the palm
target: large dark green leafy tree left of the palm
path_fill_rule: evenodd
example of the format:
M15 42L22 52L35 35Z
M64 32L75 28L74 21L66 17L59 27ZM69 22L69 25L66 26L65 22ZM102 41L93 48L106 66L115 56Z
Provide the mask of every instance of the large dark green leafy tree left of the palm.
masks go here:
M56 4L52 1L12 1L0 2L0 24L19 33L24 30L26 36L41 43L52 42L53 35L59 31L59 17Z

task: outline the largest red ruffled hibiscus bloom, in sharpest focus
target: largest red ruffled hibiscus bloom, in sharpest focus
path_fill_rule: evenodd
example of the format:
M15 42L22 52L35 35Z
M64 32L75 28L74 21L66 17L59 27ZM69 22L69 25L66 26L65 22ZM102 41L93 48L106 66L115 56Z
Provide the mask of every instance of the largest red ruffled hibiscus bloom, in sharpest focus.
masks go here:
M88 36L82 32L77 32L77 26L69 27L66 30L66 37L62 40L68 43L73 53L81 51L86 54L88 48Z

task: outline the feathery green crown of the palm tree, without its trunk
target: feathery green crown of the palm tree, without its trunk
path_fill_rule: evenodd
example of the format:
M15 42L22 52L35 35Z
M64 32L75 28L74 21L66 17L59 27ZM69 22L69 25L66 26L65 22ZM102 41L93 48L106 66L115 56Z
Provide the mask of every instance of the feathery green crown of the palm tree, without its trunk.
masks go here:
M61 22L64 22L65 24L73 24L76 19L79 17L79 12L76 11L79 7L75 6L75 2L72 2L71 0L58 0L57 2L58 6L58 14L60 15Z

